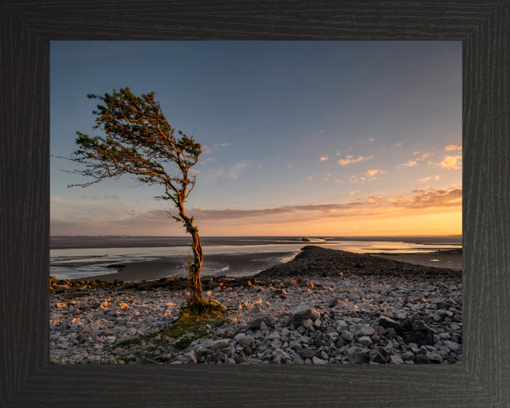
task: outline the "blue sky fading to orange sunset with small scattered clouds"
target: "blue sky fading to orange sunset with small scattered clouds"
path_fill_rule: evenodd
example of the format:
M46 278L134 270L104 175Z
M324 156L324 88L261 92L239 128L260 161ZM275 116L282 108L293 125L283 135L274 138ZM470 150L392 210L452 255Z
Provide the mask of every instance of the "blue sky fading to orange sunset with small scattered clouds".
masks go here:
M203 236L462 233L460 41L51 42L51 154L97 101L156 92L202 145ZM186 234L130 176L87 188L51 158L51 234ZM164 203L168 205L168 203Z

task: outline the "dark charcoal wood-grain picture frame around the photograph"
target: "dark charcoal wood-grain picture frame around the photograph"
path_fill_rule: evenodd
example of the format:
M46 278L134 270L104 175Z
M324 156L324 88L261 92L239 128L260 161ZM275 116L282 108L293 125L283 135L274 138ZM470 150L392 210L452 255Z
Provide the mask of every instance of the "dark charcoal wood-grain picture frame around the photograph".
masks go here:
M510 407L509 1L4 1L1 407ZM49 365L50 40L462 40L463 365Z

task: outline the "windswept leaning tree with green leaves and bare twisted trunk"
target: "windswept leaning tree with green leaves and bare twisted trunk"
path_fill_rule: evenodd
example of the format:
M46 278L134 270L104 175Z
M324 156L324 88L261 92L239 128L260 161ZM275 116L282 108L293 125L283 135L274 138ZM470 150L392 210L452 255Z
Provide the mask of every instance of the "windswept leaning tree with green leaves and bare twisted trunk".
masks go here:
M73 162L86 164L86 169L73 171L94 178L94 181L74 186L91 186L103 179L132 174L141 183L160 184L164 194L157 198L171 200L179 215L171 215L182 222L186 232L191 234L194 260L188 261L190 276L191 304L203 303L200 269L203 251L198 237L198 229L193 225L193 217L188 217L184 203L193 190L196 177L190 177L190 169L198 162L202 152L200 144L169 125L162 113L159 102L154 101L154 92L138 97L129 88L113 90L112 94L88 98L99 99L96 125L93 129L103 130L105 137L91 137L77 132L79 150L68 158Z

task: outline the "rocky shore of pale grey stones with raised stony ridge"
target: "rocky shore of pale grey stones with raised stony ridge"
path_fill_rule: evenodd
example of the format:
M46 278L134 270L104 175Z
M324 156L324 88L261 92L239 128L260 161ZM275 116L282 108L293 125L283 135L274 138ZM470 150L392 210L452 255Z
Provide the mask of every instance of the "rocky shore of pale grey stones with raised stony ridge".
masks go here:
M184 322L186 278L50 280L52 363L462 362L462 271L305 246L254 276L203 276L224 314Z

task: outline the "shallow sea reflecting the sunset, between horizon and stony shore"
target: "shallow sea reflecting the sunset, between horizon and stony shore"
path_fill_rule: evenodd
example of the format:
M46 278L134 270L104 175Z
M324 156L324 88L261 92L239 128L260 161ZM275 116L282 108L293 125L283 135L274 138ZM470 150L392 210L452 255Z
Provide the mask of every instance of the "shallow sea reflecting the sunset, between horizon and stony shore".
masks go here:
M462 236L420 237L200 237L204 263L208 255L222 257L225 271L232 255L257 254L261 270L291 261L303 246L318 245L358 254L419 253L462 248ZM188 259L193 253L191 237L52 236L50 237L50 275L57 279L79 279L116 273L115 265L174 257ZM278 256L275 256L278 254ZM242 275L239 265L233 265ZM113 267L111 267L113 266ZM242 267L241 267L242 268ZM248 271L248 269L246 269ZM256 271L251 268L249 273Z

